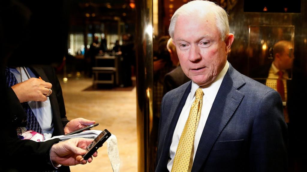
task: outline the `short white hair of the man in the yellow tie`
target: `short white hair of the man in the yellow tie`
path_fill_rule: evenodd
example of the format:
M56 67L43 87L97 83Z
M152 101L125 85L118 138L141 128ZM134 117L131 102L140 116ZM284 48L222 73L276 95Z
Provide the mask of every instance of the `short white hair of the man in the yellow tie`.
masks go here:
M193 14L203 14L206 12L211 12L215 15L216 27L218 28L221 34L221 39L223 41L226 35L229 33L228 14L222 7L216 5L214 2L203 0L195 0L188 2L187 4L181 6L175 11L169 24L169 35L171 36L171 38L173 38L174 36L174 29L179 16L189 15L190 17L193 17Z

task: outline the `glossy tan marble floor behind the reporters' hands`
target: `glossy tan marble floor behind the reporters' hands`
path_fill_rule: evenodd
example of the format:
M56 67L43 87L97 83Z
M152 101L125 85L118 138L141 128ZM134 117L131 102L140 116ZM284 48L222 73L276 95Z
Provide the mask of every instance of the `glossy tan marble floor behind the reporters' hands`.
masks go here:
M93 90L92 79L70 77L64 83L59 77L63 90L68 119L86 118L99 123L94 129L108 129L118 140L120 171L137 171L136 133L136 89ZM112 172L107 146L98 150L98 157L92 163L71 166L72 172Z

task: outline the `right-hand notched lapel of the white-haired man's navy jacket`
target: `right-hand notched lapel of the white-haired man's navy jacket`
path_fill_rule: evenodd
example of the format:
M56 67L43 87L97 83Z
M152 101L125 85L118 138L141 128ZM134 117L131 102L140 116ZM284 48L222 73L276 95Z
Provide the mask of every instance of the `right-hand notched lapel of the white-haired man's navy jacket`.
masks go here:
M239 106L244 94L237 89L244 83L241 74L229 64L201 135L192 172L201 171L218 136Z

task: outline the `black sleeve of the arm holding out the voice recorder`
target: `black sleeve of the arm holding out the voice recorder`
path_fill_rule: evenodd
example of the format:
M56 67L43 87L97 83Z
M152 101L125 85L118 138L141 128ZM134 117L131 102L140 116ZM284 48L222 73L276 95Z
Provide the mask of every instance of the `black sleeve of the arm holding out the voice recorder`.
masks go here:
M19 121L24 116L23 113L18 114L18 112L24 112L24 110L22 106L19 106L20 103L14 91L11 88L5 88L5 90L6 96L1 104L4 115L2 116L2 164L0 171L55 170L50 164L50 149L60 139L46 142L19 140L17 138L16 125L20 126ZM14 110L11 110L11 108L14 108Z

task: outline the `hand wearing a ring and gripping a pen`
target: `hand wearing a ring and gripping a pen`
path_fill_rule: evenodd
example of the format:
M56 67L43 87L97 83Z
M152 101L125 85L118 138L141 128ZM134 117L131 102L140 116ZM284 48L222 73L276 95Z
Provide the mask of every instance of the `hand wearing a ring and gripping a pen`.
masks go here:
M28 101L45 102L46 94L52 84L38 78L30 78L26 81L13 85L11 88L17 95L20 103Z

